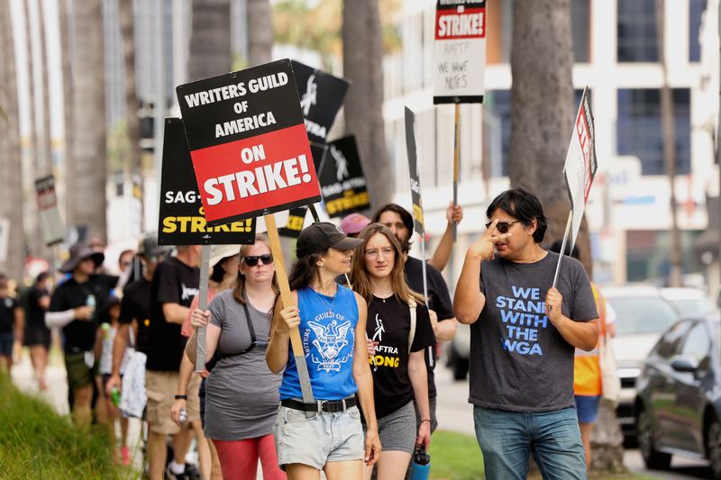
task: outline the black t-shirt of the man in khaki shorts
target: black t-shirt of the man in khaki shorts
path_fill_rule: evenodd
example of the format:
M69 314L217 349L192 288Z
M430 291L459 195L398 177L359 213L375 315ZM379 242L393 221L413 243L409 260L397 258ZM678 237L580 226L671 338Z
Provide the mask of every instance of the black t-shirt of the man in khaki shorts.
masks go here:
M180 324L170 323L163 315L163 303L189 307L198 294L200 270L171 257L155 269L151 283L151 325L148 347L148 370L177 372L187 339L180 333Z

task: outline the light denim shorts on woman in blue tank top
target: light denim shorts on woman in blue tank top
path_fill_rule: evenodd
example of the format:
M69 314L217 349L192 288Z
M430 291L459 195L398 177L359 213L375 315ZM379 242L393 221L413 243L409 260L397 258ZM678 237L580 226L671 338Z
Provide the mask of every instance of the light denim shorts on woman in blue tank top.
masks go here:
M283 470L295 463L322 470L328 462L362 460L365 455L358 407L307 418L306 412L280 406L273 435Z

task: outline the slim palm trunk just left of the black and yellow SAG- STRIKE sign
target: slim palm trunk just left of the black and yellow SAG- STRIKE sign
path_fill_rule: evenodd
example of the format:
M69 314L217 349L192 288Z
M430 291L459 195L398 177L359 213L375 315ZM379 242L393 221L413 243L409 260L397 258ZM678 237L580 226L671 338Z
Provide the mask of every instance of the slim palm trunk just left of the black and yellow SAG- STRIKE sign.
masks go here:
M132 185L137 186L140 202L141 218L140 230L145 225L144 192L142 152L141 152L141 120L138 116L138 97L135 95L135 38L133 29L132 1L120 2L120 34L123 38L123 65L125 68L125 116L128 128L128 141L130 141L130 173Z

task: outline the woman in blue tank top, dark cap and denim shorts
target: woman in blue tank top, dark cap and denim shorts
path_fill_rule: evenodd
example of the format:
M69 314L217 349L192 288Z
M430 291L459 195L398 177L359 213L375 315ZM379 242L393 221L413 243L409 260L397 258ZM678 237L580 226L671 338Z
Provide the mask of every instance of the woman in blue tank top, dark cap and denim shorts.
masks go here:
M335 282L336 276L351 271L352 249L361 242L328 222L301 231L297 262L288 278L297 306L276 304L266 360L271 372L283 371L273 433L278 463L290 480L320 478L321 470L328 480L360 480L363 462L372 466L380 454L373 380L363 341L366 302ZM314 403L303 402L288 347L296 327ZM365 442L356 394L367 425Z

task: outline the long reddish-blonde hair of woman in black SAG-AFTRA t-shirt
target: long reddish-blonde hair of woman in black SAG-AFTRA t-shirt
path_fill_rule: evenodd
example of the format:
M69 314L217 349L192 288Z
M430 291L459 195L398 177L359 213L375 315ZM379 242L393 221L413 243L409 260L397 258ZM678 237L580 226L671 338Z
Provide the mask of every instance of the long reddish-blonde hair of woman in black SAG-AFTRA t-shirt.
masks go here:
M424 303L423 295L411 290L406 283L406 274L403 271L403 267L406 266L406 257L403 254L400 242L398 242L396 235L394 235L388 227L380 223L371 223L364 228L358 236L359 239L363 239L363 243L360 244L360 247L355 250L355 255L353 255L353 267L351 269L351 285L353 290L358 292L366 302L370 303L370 301L373 300L373 284L370 280L370 273L368 273L366 269L364 252L368 240L376 234L384 235L393 246L395 258L393 269L390 271L390 285L393 289L393 294L401 302L407 302L412 298L417 303Z

